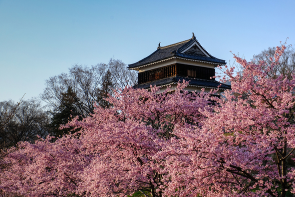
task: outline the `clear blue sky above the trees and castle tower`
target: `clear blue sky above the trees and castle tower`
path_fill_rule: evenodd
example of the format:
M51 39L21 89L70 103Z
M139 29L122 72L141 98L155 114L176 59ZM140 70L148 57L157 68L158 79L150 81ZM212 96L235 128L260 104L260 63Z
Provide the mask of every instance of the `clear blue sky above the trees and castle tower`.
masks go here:
M0 101L37 97L73 64L134 63L195 33L213 56L295 44L295 0L0 0Z

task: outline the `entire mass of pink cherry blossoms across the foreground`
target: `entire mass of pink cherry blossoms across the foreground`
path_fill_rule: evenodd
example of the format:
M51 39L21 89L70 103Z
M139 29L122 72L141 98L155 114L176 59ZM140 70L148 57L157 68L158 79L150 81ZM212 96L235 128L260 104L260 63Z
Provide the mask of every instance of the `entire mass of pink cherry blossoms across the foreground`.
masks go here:
M285 46L277 48L274 66ZM295 193L295 75L235 56L232 90L126 87L112 107L51 142L21 142L0 162L6 196L287 196Z

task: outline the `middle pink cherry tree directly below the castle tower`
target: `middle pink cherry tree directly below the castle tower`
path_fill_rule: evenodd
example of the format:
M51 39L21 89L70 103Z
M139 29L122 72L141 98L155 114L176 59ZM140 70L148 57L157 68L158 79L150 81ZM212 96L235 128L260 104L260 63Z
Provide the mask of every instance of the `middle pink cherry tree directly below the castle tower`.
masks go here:
M200 122L200 111L210 108L209 94L188 93L183 91L186 85L163 93L156 87L129 87L108 98L113 107L97 107L91 117L69 123L82 128L85 154L95 155L81 174L77 193L162 196L167 183L159 172L166 164L159 152L170 146L175 124Z

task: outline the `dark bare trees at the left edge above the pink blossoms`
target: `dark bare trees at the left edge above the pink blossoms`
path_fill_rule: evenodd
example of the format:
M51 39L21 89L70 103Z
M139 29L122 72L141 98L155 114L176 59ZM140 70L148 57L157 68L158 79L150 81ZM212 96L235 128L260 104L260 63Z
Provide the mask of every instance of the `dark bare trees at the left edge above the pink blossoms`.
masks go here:
M3 148L19 141L33 142L37 135L46 136L50 118L36 99L25 100L18 105L8 100L0 102L0 122L0 146Z

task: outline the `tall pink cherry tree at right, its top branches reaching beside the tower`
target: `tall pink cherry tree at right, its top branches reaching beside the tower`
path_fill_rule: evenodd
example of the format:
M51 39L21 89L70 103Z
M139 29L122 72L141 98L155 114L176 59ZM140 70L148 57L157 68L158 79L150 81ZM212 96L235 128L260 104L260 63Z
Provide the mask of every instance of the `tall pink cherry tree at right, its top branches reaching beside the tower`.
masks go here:
M220 67L232 90L204 111L202 127L175 125L166 195L294 196L295 73L268 74L285 48L268 67L236 55L243 73Z

